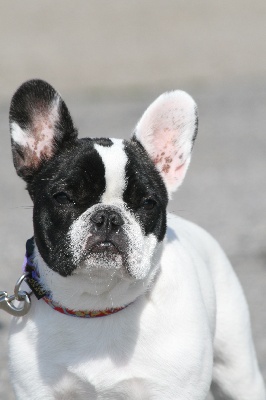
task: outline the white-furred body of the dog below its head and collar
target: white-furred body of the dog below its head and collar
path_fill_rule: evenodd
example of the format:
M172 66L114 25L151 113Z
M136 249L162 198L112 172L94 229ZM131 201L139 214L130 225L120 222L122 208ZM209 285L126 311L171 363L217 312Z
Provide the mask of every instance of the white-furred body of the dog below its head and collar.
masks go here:
M123 311L72 318L33 298L30 314L13 319L17 399L203 400L214 379L216 399L265 400L247 305L223 251L185 220L171 215L168 226L159 275ZM75 283L41 273L84 306L84 274Z

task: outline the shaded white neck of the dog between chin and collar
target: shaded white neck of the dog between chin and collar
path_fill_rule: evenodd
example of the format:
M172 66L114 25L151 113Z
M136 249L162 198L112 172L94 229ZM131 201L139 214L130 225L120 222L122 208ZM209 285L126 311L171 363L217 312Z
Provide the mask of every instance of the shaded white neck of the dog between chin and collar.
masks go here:
M44 262L36 245L31 258L41 286L50 293L49 297L55 303L69 310L86 312L127 307L147 291L159 268L156 265L141 280L110 270L98 272L97 277L97 271L92 275L86 270L77 269L72 275L63 277Z

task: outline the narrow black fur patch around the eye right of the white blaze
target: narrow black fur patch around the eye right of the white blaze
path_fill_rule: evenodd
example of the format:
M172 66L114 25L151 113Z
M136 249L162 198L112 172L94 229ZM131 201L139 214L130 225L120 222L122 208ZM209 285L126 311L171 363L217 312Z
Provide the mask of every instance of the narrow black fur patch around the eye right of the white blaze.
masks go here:
M125 142L128 157L123 200L139 220L145 235L162 241L166 232L168 195L163 180L146 150L136 140Z

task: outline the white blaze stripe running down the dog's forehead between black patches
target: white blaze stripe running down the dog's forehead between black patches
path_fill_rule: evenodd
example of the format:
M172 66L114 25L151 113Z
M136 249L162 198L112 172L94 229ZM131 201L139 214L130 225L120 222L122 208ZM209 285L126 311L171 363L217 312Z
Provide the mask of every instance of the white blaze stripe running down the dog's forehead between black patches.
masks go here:
M122 139L111 139L110 147L95 144L94 147L102 158L105 168L106 188L102 195L103 203L110 203L114 199L122 199L126 185L125 168L127 155Z

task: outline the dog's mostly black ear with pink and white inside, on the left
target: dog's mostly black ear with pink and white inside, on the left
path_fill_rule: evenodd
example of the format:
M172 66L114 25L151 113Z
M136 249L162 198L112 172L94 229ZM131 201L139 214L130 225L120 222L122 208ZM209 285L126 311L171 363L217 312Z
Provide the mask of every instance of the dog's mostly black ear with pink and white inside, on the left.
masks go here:
M18 88L11 101L9 122L14 165L26 182L77 137L61 96L42 80L27 81Z

